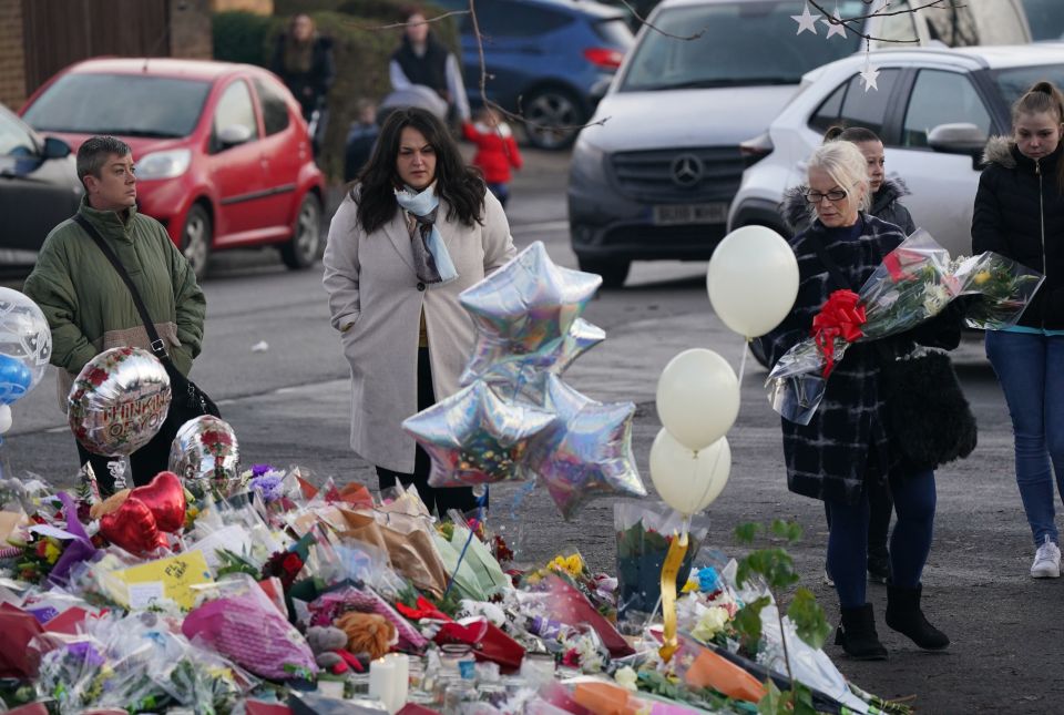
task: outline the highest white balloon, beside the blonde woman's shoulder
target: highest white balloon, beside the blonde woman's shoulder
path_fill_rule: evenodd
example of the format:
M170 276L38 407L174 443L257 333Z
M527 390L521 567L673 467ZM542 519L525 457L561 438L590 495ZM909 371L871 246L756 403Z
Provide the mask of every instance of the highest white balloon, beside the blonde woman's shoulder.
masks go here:
M787 241L766 226L736 228L714 249L706 273L709 303L745 338L779 325L798 296L798 261Z

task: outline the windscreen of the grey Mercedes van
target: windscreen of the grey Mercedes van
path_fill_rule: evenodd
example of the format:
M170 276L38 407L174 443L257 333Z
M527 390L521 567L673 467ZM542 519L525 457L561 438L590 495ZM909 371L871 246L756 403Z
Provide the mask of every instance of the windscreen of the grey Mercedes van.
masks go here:
M663 9L654 18L659 31L644 29L618 91L797 84L809 70L858 50L857 34L827 38L822 21L816 35L797 34L791 16L800 16L804 7L764 0ZM842 0L838 7L843 18L867 12L860 0Z

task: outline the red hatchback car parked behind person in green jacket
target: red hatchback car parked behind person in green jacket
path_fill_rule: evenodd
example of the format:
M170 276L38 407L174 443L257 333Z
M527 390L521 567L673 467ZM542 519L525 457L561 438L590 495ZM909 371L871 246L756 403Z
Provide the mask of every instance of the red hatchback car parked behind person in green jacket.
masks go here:
M74 151L94 134L130 144L140 211L166 226L198 276L224 248L274 244L289 268L318 258L325 181L299 104L266 70L88 60L41 86L22 118Z

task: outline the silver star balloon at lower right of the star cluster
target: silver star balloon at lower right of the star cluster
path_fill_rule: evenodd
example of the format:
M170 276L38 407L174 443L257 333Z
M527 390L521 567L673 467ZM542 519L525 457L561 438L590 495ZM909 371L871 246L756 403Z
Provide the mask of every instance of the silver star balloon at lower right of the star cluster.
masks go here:
M596 402L546 378L546 407L557 413L550 439L533 446L526 469L546 486L557 510L572 519L597 497L646 497L632 454L632 402Z

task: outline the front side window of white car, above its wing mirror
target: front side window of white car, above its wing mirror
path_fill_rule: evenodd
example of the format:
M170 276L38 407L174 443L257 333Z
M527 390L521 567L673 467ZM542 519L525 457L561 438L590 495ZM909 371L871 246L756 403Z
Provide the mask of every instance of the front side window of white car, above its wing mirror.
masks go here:
M990 113L963 74L922 70L909 98L902 146L927 146L928 133L939 124L964 122L990 134Z

